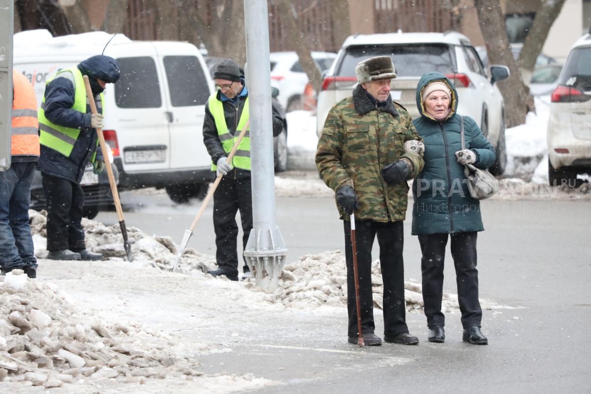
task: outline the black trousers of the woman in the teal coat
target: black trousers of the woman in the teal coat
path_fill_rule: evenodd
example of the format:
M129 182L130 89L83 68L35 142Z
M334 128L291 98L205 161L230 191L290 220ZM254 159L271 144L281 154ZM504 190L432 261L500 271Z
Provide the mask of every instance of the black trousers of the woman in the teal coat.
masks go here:
M457 233L451 235L452 258L456 267L457 298L462 312L464 328L478 325L482 320L482 308L478 301L478 270L476 269L476 236L477 232ZM423 302L427 325L445 325L445 317L441 312L443 297L443 261L447 245L447 234L430 234L418 236L423 258Z

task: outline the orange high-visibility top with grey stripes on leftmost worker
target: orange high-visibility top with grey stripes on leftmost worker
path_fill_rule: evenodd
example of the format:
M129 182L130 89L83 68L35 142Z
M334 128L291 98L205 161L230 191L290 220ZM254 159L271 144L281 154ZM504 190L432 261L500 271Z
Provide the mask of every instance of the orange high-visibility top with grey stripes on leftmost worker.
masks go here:
M12 156L39 156L37 97L27 77L12 70Z

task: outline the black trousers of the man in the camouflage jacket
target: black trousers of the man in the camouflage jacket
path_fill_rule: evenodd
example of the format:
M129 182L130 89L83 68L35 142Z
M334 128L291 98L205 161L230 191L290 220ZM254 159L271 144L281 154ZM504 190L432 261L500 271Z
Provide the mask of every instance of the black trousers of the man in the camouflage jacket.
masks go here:
M355 276L353 271L353 250L351 245L351 223L345 226L345 259L347 262L347 310L349 312L350 337L358 336L357 307L355 303ZM371 249L378 236L379 262L384 282L384 335L396 336L408 333L406 304L404 301L404 227L402 222L374 222L356 220L357 265L359 271L359 299L361 304L361 330L363 334L373 333L374 299L371 286Z

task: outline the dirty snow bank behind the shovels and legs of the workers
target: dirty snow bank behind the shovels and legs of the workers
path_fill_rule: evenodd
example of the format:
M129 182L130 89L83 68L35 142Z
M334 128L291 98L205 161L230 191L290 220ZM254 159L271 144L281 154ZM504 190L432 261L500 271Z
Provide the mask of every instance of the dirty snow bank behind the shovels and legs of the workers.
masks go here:
M47 236L47 212L29 210L31 233L36 243L43 243L40 239ZM123 248L123 236L119 224L106 226L86 218L82 219L85 231L86 248L92 252L102 253L105 258L126 258ZM127 234L131 245L134 262L144 263L165 271L171 271L177 258L178 249L171 237L148 236L137 227L127 227ZM47 252L35 250L35 254L44 258ZM186 248L178 263L177 271L203 275L215 265L215 258L203 255L192 248Z

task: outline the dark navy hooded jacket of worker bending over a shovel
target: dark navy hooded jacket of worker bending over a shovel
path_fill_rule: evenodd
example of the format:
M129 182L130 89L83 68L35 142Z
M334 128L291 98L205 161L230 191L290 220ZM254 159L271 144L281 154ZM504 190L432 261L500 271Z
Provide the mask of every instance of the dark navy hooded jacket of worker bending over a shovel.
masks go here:
M106 58L106 56L105 56ZM82 67L81 67L82 66ZM119 70L113 69L111 61L82 61L78 69L82 75L89 75L91 73L119 73ZM99 93L102 92L96 80L89 75L95 100L98 99ZM90 158L96 149L96 158L102 160L100 148L96 146L95 129L90 127L90 106L86 106L86 113L79 112L72 109L74 105L74 84L67 78L59 77L47 84L45 89L45 116L46 118L56 123L56 125L66 126L70 128L80 129L80 134L72 153L69 157L65 157L60 152L54 149L47 148L41 145L41 155L39 158L38 169L48 175L54 177L64 178L69 181L80 183L84 170Z

